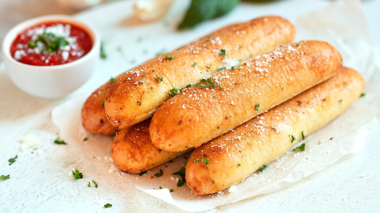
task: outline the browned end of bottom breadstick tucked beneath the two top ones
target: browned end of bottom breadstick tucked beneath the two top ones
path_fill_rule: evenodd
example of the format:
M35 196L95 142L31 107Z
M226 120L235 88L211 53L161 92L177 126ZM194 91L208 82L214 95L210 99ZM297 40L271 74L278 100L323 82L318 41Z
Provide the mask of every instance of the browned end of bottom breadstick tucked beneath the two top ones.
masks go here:
M155 147L149 137L150 122L148 119L117 132L111 149L117 168L137 174L190 151L166 152Z

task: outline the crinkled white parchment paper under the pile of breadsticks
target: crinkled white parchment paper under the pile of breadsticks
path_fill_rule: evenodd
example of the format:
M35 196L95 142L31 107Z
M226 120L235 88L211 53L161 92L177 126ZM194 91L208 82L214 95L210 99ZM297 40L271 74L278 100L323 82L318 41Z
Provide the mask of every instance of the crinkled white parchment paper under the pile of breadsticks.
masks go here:
M295 24L296 40L319 39L335 46L342 53L343 64L363 75L366 95L334 122L307 137L303 141L306 144L304 152L289 151L270 163L261 174L254 173L229 190L199 196L194 195L186 185L177 187L178 179L171 173L185 166L190 154L157 166L142 176L118 170L110 153L113 137L88 133L81 125L80 110L89 94L78 95L53 110L52 119L60 128L59 136L74 144L98 169L107 171L110 181L113 178L125 179L136 188L190 212L268 194L321 171L342 156L360 151L370 133L367 126L377 124L376 115L380 112L380 57L368 40L358 0L335 1L322 11L299 17ZM83 142L86 137L89 140ZM295 144L295 147L299 145ZM151 178L159 169L164 171L164 175ZM174 192L170 193L170 189Z

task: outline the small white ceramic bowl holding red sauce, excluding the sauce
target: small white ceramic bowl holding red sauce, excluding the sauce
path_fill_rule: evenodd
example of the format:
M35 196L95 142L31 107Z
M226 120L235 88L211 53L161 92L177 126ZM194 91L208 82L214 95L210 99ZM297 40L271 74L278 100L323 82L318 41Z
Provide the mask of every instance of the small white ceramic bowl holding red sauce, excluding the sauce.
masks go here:
M93 40L90 52L75 61L54 66L23 64L12 57L10 46L20 32L39 23L54 20L73 24L86 31ZM42 16L26 20L13 27L4 37L1 54L10 79L19 89L42 98L59 98L78 89L91 77L99 60L100 38L93 28L70 16Z

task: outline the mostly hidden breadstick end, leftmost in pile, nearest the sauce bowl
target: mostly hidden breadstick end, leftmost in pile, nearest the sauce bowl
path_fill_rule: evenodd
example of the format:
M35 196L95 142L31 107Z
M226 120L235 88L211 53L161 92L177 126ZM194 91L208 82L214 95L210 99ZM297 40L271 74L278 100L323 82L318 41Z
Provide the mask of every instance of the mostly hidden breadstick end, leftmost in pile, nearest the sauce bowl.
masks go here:
M104 110L104 100L111 82L108 81L96 89L82 106L82 125L93 133L102 135L114 135L117 129L108 121Z

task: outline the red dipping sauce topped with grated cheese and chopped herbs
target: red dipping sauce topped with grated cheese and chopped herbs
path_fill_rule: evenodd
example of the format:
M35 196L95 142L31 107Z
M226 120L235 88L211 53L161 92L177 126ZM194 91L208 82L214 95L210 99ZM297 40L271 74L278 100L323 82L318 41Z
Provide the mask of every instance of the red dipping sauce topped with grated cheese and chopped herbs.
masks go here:
M90 35L68 23L41 23L25 29L12 42L11 56L35 65L66 64L87 54L93 46Z

